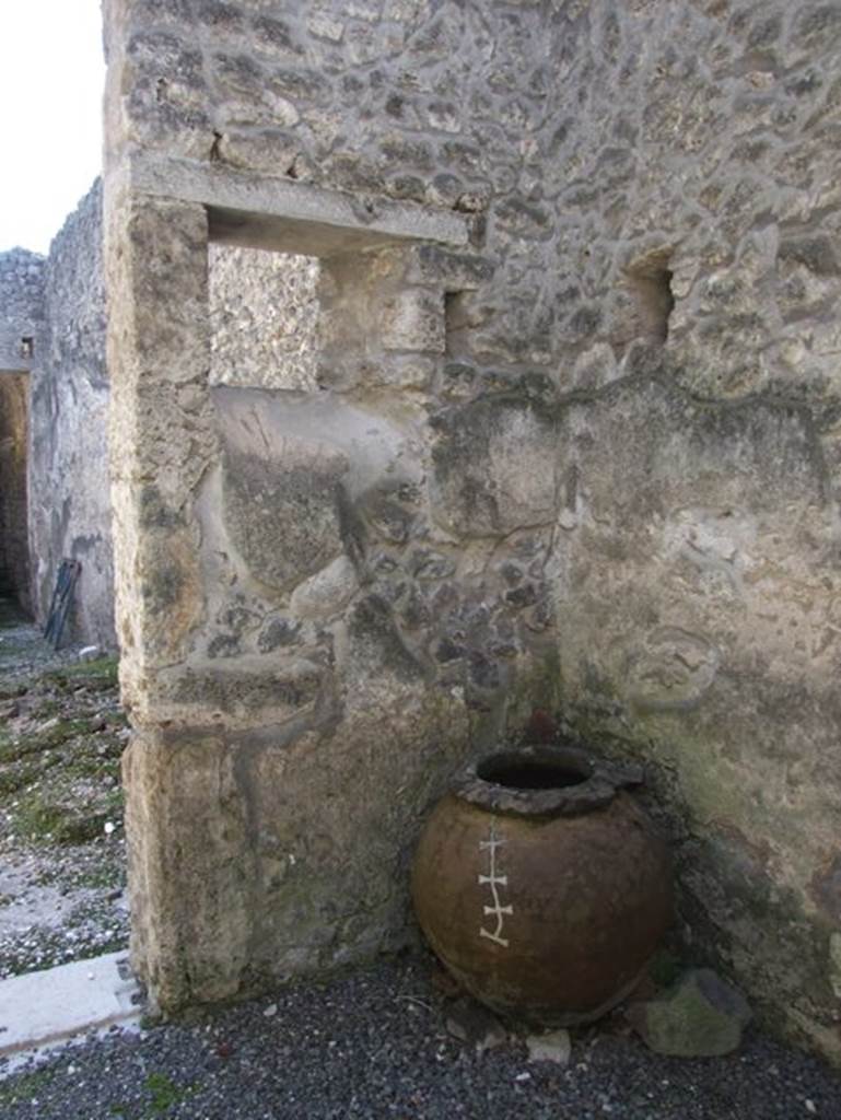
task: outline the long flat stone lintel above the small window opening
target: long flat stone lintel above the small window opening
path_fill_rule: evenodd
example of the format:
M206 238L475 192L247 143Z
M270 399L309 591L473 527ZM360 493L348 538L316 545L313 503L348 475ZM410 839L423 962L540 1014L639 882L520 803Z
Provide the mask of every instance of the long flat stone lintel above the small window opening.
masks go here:
M134 156L124 181L141 194L206 206L211 239L227 244L312 256L401 241L468 244L468 220L460 214L217 164Z

